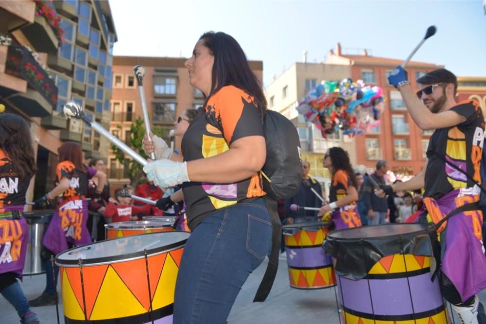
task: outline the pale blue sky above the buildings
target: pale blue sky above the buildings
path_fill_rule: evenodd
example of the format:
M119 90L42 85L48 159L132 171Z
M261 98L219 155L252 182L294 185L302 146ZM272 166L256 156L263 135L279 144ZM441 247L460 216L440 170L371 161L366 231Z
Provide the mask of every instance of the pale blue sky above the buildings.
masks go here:
M232 35L250 60L263 61L269 85L295 62L344 53L405 59L430 25L437 33L412 60L445 65L457 76L486 77L482 0L110 0L114 55L190 57L201 34Z

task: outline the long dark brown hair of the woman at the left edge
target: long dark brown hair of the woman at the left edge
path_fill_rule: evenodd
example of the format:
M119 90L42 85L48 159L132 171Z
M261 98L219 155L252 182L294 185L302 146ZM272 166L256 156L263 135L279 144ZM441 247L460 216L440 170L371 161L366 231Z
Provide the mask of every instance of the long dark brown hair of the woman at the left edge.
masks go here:
M29 125L20 116L0 114L0 148L8 156L20 178L34 175L34 147Z

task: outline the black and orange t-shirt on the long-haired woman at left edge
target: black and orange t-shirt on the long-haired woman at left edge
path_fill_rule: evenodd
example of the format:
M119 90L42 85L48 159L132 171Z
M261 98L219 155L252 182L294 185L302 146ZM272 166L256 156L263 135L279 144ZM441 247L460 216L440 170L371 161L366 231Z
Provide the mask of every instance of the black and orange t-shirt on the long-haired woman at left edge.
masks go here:
M9 206L25 205L25 193L32 176L20 178L10 158L0 149L0 213L11 210Z

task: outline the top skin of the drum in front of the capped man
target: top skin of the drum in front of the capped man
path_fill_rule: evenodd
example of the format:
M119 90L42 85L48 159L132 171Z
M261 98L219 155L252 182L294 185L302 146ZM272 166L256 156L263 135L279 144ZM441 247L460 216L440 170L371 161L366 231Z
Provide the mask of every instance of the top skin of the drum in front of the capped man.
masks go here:
M428 228L429 225L427 224L417 223L384 224L342 229L331 232L328 234L328 236L339 241L346 239L376 239L417 233L426 231Z

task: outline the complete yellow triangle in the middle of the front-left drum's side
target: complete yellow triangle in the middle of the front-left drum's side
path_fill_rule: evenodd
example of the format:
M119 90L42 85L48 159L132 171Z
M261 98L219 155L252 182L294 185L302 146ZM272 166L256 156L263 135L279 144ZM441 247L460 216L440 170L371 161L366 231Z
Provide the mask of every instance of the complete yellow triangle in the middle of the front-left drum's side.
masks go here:
M115 319L145 312L145 308L109 266L89 320Z

